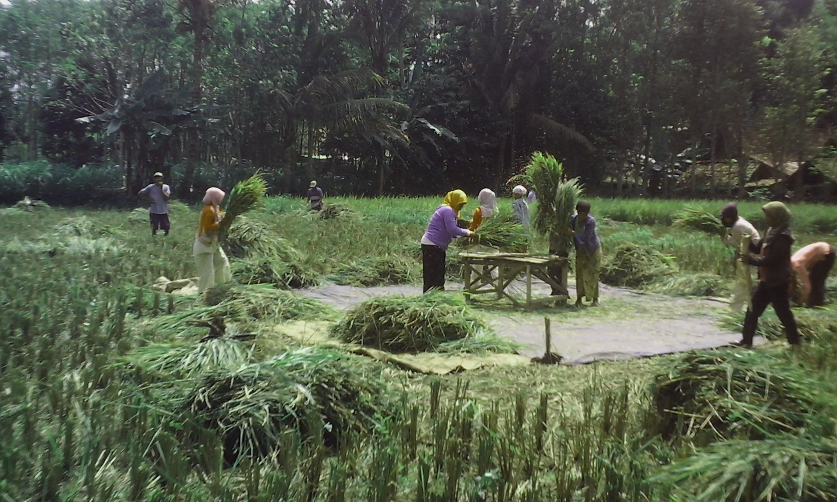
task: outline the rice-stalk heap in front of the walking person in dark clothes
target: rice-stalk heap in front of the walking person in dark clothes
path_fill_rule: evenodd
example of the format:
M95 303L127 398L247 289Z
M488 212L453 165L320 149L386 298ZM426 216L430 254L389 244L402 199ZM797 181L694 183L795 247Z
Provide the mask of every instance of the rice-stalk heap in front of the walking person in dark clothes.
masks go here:
M763 351L686 353L655 378L653 395L664 438L762 439L833 428L823 382Z

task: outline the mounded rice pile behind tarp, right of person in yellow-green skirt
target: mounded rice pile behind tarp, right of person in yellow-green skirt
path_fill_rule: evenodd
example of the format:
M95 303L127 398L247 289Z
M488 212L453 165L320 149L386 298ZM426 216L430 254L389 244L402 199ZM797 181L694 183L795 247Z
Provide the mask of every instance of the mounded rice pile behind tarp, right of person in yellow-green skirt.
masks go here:
M604 284L636 288L677 272L674 259L655 248L624 243L616 248L603 266Z

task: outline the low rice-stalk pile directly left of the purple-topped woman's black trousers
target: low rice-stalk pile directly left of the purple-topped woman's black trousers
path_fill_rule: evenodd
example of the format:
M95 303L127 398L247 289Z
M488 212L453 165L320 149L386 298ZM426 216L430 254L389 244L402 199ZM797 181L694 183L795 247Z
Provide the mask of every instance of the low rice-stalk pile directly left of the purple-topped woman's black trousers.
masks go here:
M397 255L384 255L338 265L328 279L336 284L370 287L411 284L418 277L415 264L410 260Z

